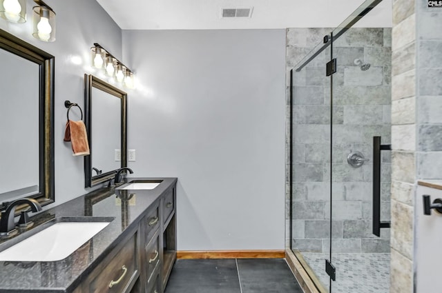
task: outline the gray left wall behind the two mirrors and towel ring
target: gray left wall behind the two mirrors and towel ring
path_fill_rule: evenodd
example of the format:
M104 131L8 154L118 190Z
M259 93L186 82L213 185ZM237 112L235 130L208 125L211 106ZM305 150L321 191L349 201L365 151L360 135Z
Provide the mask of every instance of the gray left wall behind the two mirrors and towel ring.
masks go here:
M122 32L96 1L45 1L57 13L57 40L45 43L32 37L32 1L28 21L12 24L0 19L0 28L55 56L55 204L88 192L84 188L83 157L74 157L63 141L66 124L64 101L84 103L84 73L91 73L90 47L97 42L122 56ZM70 119L79 119L72 111ZM79 113L79 112L77 112ZM23 121L24 122L24 121Z

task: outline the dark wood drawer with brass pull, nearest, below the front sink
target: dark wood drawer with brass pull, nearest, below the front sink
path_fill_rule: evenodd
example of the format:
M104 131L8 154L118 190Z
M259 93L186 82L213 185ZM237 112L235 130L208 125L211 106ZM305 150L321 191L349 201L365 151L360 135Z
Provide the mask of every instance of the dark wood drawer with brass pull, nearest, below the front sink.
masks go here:
M88 284L88 292L126 292L127 286L137 277L136 234L115 254L104 267L97 267Z

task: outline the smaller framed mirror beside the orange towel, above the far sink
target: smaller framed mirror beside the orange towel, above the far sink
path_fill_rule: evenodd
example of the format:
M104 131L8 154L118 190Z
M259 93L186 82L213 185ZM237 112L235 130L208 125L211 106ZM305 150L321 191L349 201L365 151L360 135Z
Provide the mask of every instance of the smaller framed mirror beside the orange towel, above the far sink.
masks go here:
M84 182L91 187L112 179L119 168L127 166L127 94L90 74L84 74L84 81L90 148L90 155L84 157Z

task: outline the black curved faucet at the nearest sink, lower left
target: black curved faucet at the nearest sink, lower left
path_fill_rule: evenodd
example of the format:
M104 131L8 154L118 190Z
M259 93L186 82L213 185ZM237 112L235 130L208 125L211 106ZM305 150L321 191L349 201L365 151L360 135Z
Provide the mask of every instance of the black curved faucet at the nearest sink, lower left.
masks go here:
M38 201L35 199L17 199L16 201L12 201L4 210L1 212L1 219L0 219L0 236L8 236L10 235L10 232L15 229L15 209L17 208L17 205L27 204L30 206L30 210L32 212L38 212L41 211L41 205ZM20 221L23 221L24 219L27 219L27 211L21 212L21 218ZM22 220L23 218L23 220ZM26 222L26 221L25 221Z

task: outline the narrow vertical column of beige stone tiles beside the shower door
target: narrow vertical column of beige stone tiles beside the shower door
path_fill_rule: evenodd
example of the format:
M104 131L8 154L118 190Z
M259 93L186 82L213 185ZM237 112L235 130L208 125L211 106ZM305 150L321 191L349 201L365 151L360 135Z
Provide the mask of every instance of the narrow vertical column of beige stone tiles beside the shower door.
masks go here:
M390 292L414 292L414 183L416 182L415 0L393 1L392 229ZM423 4L423 1L420 1ZM440 21L438 21L440 22ZM404 139L406 138L406 139Z

